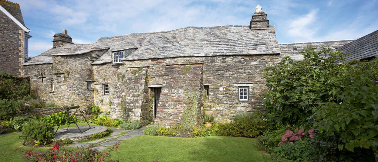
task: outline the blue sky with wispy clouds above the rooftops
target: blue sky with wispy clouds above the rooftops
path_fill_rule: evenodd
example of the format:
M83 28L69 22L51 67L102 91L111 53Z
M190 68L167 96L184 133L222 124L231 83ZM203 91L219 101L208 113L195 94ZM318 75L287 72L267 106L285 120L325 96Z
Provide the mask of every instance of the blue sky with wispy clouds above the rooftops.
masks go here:
M76 44L133 32L187 26L249 25L261 5L279 43L345 40L378 29L378 1L227 0L11 0L19 3L29 40L29 56L50 49L55 33L67 29Z

